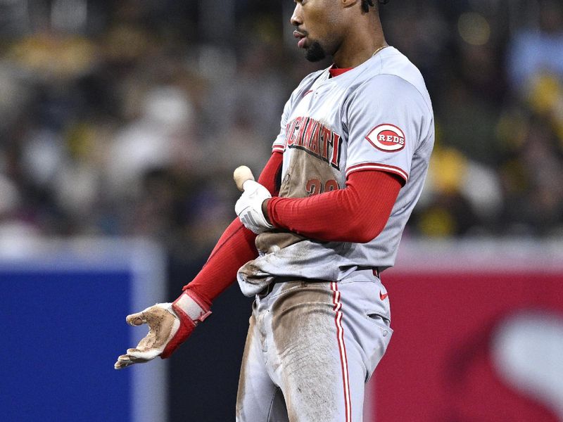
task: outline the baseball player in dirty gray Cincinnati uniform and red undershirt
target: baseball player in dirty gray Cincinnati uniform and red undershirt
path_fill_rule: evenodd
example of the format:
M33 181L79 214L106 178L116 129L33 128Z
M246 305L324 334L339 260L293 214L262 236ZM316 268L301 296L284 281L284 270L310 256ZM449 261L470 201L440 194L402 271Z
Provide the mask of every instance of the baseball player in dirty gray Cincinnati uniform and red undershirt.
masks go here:
M380 274L422 191L434 117L377 1L295 3L298 47L334 64L291 94L270 160L201 272L175 302L127 316L149 333L115 368L169 357L237 280L255 301L236 420L359 422L392 334Z

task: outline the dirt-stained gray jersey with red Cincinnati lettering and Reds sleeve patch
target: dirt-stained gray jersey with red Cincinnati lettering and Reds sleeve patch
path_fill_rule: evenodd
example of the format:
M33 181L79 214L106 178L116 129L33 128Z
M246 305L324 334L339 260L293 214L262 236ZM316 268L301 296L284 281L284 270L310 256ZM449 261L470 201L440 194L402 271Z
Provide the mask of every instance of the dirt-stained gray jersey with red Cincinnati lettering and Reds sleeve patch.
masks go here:
M329 69L305 77L284 107L273 145L284 154L279 196L343 188L346 177L362 170L397 174L405 185L384 230L368 243L260 234L260 256L237 275L242 292L255 295L275 277L340 281L358 269L393 266L433 145L434 114L424 80L397 49L389 46L338 77L330 78Z

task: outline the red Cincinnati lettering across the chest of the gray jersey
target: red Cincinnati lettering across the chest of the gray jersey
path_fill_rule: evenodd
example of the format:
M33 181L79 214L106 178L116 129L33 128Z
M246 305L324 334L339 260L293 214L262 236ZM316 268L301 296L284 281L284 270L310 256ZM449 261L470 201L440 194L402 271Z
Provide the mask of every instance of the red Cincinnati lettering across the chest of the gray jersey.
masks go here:
M339 170L341 136L311 117L296 117L286 126L286 148L298 148Z

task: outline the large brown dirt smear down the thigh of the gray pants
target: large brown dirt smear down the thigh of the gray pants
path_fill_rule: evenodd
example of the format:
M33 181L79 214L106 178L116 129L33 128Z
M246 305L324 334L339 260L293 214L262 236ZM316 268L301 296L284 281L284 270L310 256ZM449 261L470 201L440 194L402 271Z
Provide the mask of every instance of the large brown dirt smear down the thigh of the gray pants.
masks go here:
M272 307L289 421L329 421L342 382L332 293L327 282L284 283Z

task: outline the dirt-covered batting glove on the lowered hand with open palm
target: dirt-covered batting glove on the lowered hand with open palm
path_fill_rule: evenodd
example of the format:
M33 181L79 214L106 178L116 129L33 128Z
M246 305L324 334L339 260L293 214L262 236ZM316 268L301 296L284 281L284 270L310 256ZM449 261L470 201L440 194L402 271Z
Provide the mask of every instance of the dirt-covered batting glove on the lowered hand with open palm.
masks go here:
M144 364L157 356L166 359L210 313L209 307L188 289L174 303L157 303L137 314L127 315L125 320L129 325L147 324L148 334L137 347L127 349L126 354L118 357L113 367L123 369L132 364Z

